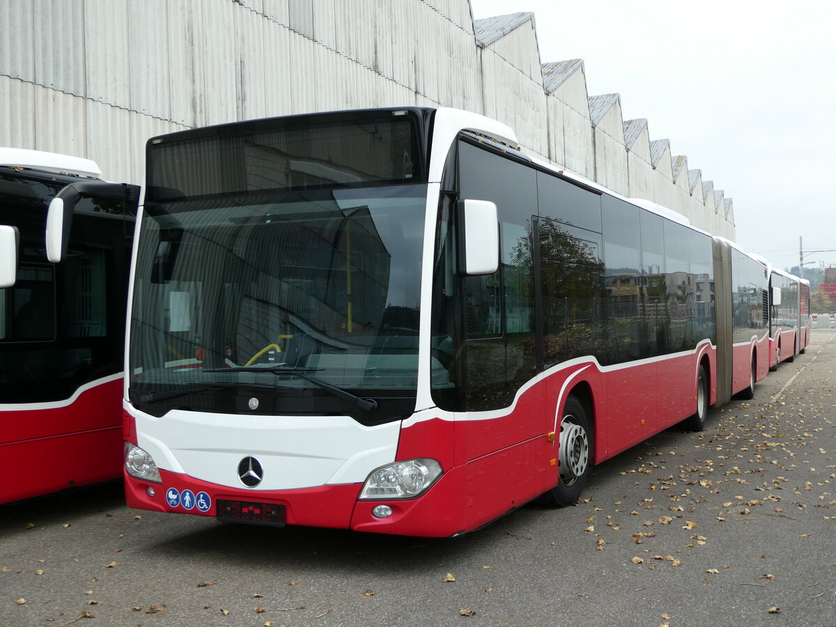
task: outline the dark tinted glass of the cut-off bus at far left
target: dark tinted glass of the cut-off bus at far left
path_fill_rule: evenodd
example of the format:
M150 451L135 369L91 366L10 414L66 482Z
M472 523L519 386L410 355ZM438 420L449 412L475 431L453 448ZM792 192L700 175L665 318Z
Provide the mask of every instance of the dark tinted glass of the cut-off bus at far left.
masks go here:
M20 232L18 282L0 290L0 403L67 399L123 367L133 222L121 203L85 199L67 260L48 263L46 208L64 182L0 175L0 224Z

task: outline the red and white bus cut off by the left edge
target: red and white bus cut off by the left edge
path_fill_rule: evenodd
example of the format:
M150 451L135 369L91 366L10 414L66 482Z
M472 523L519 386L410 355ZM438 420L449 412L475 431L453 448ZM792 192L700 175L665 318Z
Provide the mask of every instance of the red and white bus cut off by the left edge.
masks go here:
M136 189L74 203L49 263L48 203L93 161L0 149L0 503L121 477L125 302Z

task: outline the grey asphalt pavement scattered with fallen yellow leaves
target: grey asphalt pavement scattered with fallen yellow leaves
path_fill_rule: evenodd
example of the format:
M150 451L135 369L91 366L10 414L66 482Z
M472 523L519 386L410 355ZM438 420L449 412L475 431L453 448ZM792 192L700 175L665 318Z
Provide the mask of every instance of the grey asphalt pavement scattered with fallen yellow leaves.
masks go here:
M2 506L0 625L833 627L834 338L597 466L577 505L461 538L140 512L117 484Z

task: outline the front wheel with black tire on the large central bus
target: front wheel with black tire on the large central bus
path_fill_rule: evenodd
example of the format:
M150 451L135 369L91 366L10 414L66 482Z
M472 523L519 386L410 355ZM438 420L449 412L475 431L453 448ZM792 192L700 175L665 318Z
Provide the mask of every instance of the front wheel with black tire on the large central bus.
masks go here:
M566 507L584 492L592 467L592 429L584 405L574 396L563 405L558 451L558 485L543 497L552 507Z

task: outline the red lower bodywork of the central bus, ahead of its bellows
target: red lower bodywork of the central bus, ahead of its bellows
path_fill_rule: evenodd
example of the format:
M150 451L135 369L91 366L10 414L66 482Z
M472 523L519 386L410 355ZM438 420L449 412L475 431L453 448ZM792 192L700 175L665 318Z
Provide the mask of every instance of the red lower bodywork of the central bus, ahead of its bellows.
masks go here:
M161 470L161 484L125 476L128 505L157 512L170 507L166 490L206 492L216 516L217 498L269 502L285 506L287 523L356 531L445 537L480 528L521 507L558 482L558 430L563 404L574 386L592 390L596 462L614 456L655 432L682 421L696 410L699 364L710 371L711 401L716 399L715 351L703 342L692 353L647 359L625 367L601 367L590 359L562 364L533 380L503 413L450 414L439 410L429 419L405 421L396 459L432 457L441 463L441 477L421 497L359 501L360 483L292 490L250 490L204 482ZM635 390L642 390L636 394ZM670 399L678 397L679 401ZM125 436L135 440L133 421L125 414ZM153 487L150 497L147 488ZM390 517L372 514L376 505L392 508Z

